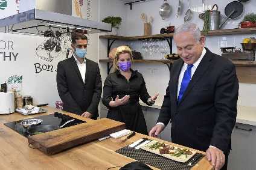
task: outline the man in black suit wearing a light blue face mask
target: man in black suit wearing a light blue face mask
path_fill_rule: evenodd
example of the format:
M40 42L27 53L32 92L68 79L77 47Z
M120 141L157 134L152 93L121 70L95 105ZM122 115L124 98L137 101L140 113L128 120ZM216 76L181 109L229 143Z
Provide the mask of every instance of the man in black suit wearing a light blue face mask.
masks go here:
M101 76L97 62L86 58L87 37L83 31L72 32L71 58L57 67L57 88L63 111L97 119L101 97Z

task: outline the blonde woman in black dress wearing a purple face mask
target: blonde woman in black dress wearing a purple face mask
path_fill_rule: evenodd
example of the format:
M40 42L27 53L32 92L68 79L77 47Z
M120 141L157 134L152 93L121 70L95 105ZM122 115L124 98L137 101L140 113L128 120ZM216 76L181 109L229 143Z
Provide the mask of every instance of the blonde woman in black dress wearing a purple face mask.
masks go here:
M121 121L126 129L147 135L147 126L139 98L147 105L153 105L158 94L150 97L142 74L133 71L132 50L127 46L117 48L113 68L103 88L103 104L109 108L107 118Z

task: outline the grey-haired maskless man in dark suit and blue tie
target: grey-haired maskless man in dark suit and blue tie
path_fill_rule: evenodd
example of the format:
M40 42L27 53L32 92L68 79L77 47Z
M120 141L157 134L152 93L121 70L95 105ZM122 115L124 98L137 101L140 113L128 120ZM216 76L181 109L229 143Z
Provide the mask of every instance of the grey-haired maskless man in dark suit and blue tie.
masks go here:
M215 169L226 169L237 116L235 66L204 47L194 23L176 29L174 42L181 58L171 67L158 123L149 135L159 135L171 120L172 142L206 151Z

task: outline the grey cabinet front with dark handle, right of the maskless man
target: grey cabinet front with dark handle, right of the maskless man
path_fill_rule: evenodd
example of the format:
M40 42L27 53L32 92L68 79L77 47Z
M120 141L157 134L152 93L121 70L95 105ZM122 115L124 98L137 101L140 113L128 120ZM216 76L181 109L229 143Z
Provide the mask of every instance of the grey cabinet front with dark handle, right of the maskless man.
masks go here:
M232 150L228 158L229 170L256 169L256 126L236 123L232 132Z

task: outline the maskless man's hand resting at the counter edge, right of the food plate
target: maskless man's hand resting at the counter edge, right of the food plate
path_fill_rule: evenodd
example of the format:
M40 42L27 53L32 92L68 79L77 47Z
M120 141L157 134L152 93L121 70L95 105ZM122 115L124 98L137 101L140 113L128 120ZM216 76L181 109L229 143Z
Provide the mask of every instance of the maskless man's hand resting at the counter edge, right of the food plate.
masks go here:
M216 147L209 147L206 151L206 157L208 161L211 161L211 165L214 166L215 170L221 169L225 164L225 154Z

